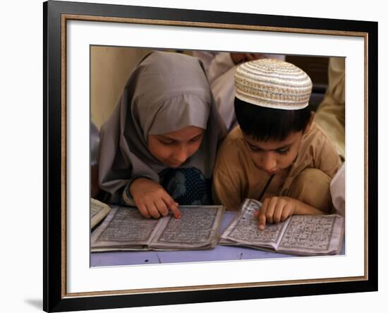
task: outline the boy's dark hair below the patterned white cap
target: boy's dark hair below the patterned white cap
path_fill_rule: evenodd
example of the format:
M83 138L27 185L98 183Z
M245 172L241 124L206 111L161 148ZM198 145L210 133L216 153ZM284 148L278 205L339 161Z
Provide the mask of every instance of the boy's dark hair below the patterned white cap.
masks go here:
M283 110L265 108L234 98L234 111L241 130L255 140L284 140L291 133L305 130L311 109Z

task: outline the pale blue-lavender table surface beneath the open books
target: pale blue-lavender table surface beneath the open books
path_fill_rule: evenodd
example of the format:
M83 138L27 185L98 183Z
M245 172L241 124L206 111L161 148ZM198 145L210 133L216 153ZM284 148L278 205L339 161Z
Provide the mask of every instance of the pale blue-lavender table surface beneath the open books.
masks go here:
M234 211L226 211L221 224L221 233L236 216ZM340 254L344 254L342 245ZM248 247L216 245L212 250L190 251L114 251L90 253L90 266L164 264L182 262L229 261L238 259L273 259L295 257L291 254L266 252Z

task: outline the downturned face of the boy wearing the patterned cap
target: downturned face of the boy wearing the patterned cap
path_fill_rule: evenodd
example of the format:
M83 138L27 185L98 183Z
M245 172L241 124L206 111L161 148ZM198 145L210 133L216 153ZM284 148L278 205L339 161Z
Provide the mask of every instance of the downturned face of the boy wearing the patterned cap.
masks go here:
M255 165L269 175L279 173L293 164L298 156L303 132L291 133L286 139L278 140L255 140L243 133L245 145L248 147L250 156Z

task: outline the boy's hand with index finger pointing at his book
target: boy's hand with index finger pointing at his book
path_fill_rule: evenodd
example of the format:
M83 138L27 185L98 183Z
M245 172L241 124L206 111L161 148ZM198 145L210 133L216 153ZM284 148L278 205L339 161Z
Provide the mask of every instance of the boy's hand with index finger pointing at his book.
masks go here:
M269 197L262 202L260 211L255 212L259 219L259 229L263 231L265 223L279 223L285 221L296 211L298 200L290 197Z

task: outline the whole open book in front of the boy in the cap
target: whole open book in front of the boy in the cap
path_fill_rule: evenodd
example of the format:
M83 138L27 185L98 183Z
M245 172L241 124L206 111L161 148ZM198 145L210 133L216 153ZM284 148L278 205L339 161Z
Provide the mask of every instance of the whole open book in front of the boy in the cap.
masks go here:
M259 250L295 255L338 254L344 236L344 218L339 215L293 215L260 231L253 217L261 202L246 199L241 211L226 228L220 245L243 245Z

